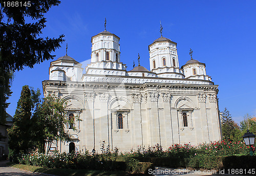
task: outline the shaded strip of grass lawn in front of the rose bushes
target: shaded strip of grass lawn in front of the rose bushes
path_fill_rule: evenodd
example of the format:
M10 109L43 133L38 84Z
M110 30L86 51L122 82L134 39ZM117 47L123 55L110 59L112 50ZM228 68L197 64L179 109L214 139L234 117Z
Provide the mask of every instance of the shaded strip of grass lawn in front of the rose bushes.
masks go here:
M24 164L15 164L15 163L7 163L7 165L28 170L31 172L40 172L40 173L47 173L47 174L53 174L53 175L60 175L60 176L128 176L128 175L145 175L145 174L131 174L125 171L102 171L102 170L87 170L87 169L52 169L52 168L44 168L39 166L30 166L30 165L24 165Z

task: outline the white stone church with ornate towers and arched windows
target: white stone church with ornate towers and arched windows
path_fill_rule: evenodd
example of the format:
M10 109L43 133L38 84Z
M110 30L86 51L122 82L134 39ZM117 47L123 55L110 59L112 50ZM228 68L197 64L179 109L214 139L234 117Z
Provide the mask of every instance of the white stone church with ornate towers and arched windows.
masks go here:
M192 58L180 67L177 43L160 37L148 46L150 70L131 71L121 62L119 37L108 31L92 37L91 63L72 57L52 61L44 95L66 100L72 141L51 150L129 151L138 146L199 143L221 139L218 85L206 74L205 64ZM75 126L76 130L71 129Z

